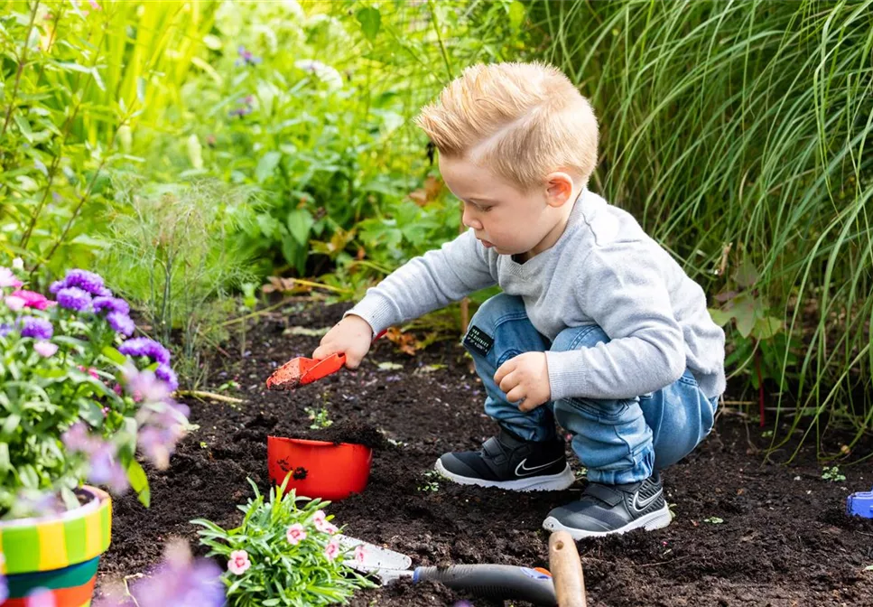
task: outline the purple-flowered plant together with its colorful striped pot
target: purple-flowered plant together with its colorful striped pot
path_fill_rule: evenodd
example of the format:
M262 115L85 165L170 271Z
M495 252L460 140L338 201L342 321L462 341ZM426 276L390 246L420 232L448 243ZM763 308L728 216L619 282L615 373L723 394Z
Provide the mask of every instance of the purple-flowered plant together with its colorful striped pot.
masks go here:
M27 290L21 260L0 266L0 596L35 591L90 602L109 545L113 492L147 506L135 453L165 467L188 426L170 353L128 339L124 300L71 270L50 294ZM17 603L16 603L17 602Z

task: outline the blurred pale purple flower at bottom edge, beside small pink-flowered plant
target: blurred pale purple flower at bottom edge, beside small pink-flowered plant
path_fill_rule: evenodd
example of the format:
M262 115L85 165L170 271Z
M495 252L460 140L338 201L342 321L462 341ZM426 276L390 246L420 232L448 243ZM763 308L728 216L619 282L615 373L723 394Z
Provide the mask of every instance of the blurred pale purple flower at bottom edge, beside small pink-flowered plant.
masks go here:
M139 607L220 607L226 601L220 576L221 570L213 561L192 561L188 546L169 546L163 563L154 574L135 583L131 594Z

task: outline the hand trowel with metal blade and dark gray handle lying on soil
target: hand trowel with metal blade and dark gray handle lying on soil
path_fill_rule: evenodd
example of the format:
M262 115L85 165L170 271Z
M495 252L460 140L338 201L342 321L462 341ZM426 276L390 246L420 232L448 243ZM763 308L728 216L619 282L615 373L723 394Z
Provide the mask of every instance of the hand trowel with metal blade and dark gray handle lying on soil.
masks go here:
M372 575L383 586L399 580L440 582L453 590L463 590L492 599L516 599L536 605L557 605L552 574L540 567L515 565L450 565L447 567L415 567L412 559L393 550L369 544L355 537L342 536L340 546L364 546L362 560L348 559L346 565Z

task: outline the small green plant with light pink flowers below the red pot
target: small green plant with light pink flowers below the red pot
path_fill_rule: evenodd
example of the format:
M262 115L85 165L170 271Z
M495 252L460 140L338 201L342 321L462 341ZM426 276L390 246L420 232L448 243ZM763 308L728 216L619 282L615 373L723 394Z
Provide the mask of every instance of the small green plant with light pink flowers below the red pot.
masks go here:
M192 520L204 527L200 543L209 555L223 556L228 570L228 607L241 605L329 605L345 603L356 588L372 587L347 561L364 558L364 547L349 551L339 542L339 528L323 506L330 502L298 498L294 491L270 490L269 501L257 490L255 499L238 508L243 523L225 530L209 520Z

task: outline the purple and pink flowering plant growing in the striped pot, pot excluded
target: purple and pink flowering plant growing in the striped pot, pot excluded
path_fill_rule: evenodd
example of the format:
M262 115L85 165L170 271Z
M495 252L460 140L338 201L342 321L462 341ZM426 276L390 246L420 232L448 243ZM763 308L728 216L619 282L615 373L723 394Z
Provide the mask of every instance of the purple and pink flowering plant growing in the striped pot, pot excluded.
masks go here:
M0 517L74 508L85 480L148 505L137 449L164 467L188 426L170 352L127 339L129 306L99 275L70 270L53 297L24 286L20 259L0 266Z

